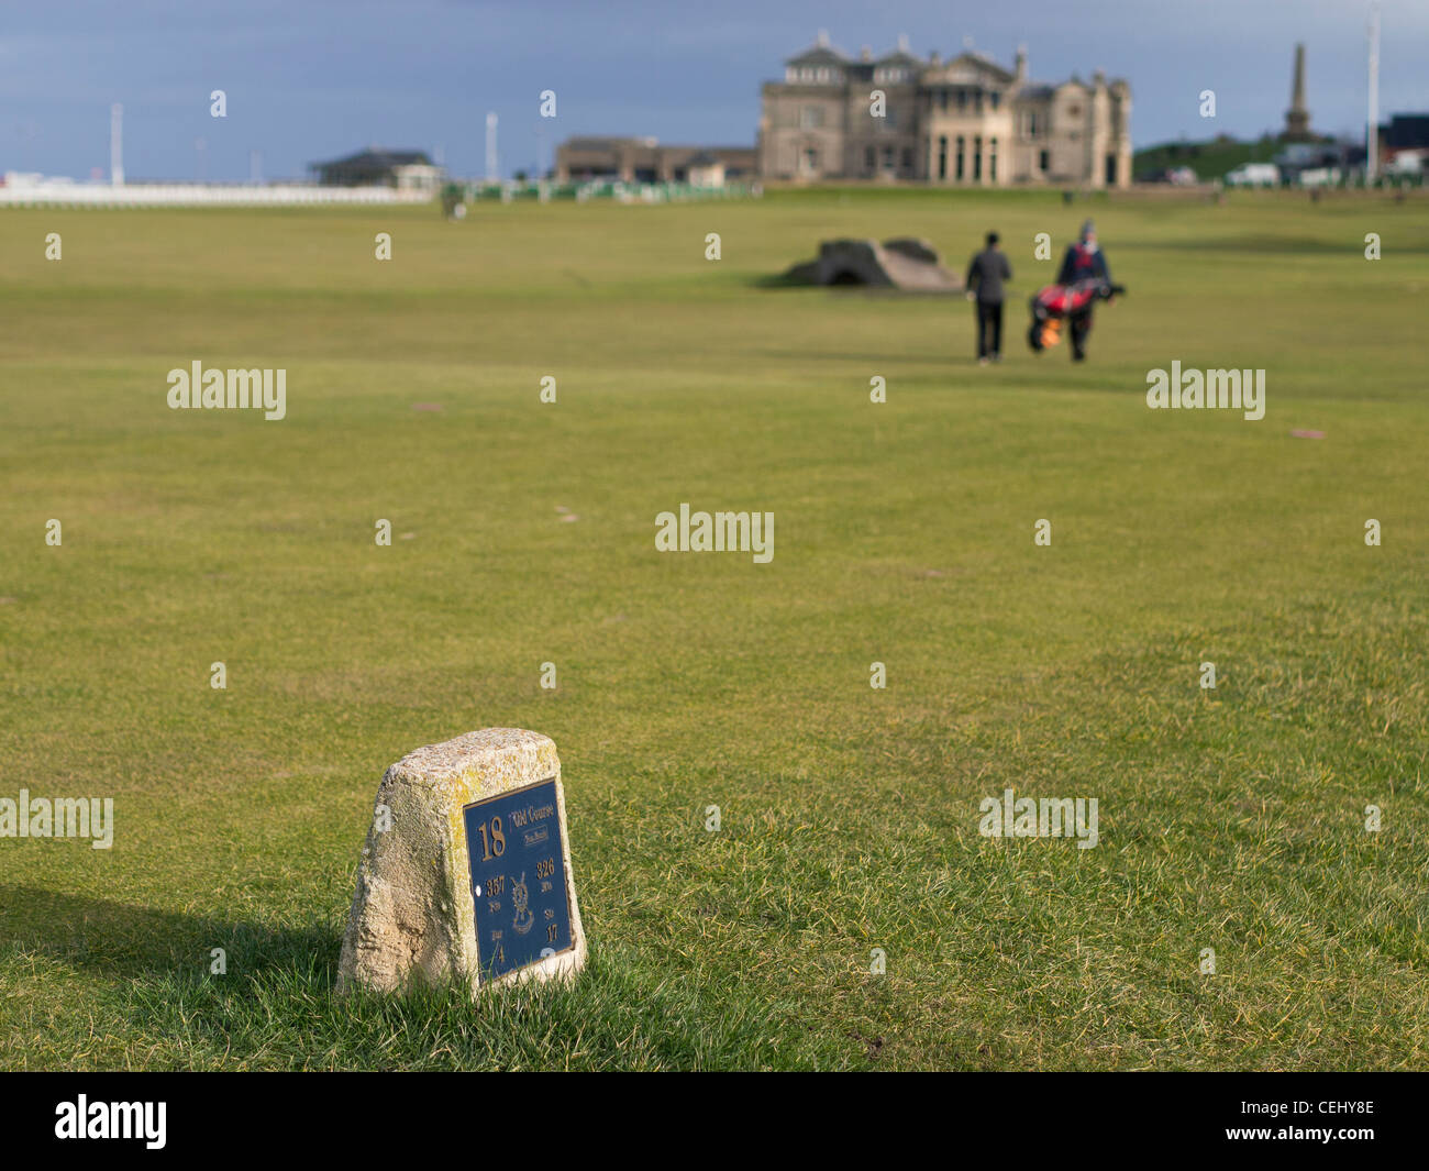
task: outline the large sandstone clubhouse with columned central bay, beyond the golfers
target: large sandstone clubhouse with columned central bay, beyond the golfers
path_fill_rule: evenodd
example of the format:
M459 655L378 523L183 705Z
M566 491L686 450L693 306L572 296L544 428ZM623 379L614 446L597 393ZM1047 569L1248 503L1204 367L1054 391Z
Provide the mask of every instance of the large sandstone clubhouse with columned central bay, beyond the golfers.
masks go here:
M875 113L883 94L882 116ZM759 172L769 179L893 179L942 186L1132 182L1132 93L1097 70L1060 84L980 53L915 57L907 43L852 60L825 34L763 86Z

